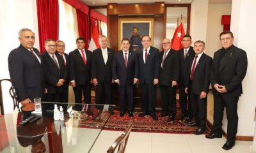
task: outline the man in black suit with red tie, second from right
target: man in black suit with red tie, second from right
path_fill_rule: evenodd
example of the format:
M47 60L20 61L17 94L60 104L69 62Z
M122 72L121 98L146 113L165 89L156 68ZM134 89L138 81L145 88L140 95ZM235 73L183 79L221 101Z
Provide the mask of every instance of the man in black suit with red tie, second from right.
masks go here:
M202 135L206 126L207 93L210 85L212 58L204 54L204 50L204 41L195 41L195 57L189 62L188 73L185 74L185 92L189 94L195 117L195 122L188 122L188 126L198 126L195 135Z

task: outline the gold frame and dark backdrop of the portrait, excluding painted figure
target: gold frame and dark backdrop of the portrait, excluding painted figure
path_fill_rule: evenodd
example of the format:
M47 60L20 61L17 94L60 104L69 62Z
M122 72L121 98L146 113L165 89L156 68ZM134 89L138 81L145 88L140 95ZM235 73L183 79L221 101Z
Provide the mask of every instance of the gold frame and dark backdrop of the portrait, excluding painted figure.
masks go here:
M123 38L130 40L133 27L138 27L141 36L148 35L151 38L150 45L154 43L154 18L119 18L118 19L118 48L121 50ZM129 33L129 34L128 34Z

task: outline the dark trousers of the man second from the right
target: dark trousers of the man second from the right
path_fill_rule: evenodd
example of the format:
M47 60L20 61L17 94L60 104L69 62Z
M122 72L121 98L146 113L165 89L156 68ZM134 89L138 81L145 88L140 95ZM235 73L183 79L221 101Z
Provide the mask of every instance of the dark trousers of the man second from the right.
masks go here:
M193 108L193 115L195 122L199 125L199 128L205 129L206 125L206 112L207 112L207 97L200 99L200 94L195 94L193 89L189 89L189 101Z

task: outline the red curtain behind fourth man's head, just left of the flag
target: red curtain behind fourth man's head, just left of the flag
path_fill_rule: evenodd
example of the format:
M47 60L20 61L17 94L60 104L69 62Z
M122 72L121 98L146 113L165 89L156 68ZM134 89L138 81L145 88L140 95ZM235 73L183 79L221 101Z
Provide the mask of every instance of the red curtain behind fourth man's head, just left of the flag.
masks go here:
M88 21L88 15L83 13L83 11L76 10L76 15L77 15L77 24L78 24L78 33L79 36L83 37L85 40L85 47L88 49L89 47L89 39L90 39L90 34L88 33L89 30L89 21Z

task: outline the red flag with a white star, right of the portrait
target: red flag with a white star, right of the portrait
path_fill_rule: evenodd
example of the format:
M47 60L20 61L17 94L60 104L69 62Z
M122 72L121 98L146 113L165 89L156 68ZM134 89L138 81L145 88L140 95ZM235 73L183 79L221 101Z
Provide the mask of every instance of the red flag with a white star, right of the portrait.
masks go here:
M173 40L172 40L172 49L173 50L180 50L181 48L183 48L181 41L182 41L182 38L184 35L185 35L184 27L181 22L179 27L175 30L175 32L173 34Z

